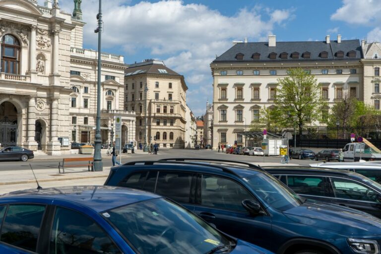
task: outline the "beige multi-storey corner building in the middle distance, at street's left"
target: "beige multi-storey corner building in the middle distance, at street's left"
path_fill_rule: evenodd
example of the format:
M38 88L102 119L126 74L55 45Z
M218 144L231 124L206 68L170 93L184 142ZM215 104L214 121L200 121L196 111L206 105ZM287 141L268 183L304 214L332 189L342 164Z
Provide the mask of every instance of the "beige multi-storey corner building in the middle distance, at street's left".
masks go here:
M184 76L161 61L130 64L125 75L125 109L136 112L136 141L185 148ZM146 136L146 138L145 138Z

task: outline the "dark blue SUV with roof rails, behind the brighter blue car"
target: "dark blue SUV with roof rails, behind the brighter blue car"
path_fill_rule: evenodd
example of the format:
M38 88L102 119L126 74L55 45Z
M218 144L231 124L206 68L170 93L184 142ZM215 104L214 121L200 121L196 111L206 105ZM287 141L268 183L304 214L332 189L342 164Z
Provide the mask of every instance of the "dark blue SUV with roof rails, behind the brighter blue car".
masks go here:
M165 195L218 229L278 254L379 254L381 220L300 197L250 163L167 159L111 169L105 185Z

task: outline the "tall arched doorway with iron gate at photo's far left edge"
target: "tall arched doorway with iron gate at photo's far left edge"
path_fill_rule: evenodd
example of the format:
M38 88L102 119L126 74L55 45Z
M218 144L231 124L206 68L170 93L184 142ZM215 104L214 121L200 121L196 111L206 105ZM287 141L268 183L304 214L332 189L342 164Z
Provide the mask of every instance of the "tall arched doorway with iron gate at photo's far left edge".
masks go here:
M1 146L17 145L17 109L6 101L0 104L0 143Z

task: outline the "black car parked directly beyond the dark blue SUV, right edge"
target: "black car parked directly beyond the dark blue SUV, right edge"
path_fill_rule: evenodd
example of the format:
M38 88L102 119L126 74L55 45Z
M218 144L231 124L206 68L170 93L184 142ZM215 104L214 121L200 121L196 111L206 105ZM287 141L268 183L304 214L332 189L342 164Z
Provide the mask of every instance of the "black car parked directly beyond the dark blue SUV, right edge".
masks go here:
M305 198L351 207L381 218L381 185L363 175L306 166L263 168Z

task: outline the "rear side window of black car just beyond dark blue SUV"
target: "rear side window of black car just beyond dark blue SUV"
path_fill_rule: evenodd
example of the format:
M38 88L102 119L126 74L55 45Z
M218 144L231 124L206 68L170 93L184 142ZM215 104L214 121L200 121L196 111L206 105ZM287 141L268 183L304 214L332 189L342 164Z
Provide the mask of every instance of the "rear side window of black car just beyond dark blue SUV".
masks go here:
M333 196L330 183L319 176L287 176L288 187L298 194Z

